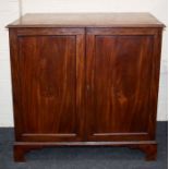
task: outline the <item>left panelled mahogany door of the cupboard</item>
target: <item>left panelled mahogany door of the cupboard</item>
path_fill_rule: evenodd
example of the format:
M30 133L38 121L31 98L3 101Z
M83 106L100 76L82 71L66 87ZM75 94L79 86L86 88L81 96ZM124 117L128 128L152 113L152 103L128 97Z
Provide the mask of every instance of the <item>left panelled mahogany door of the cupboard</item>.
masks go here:
M17 141L81 141L84 29L10 32Z

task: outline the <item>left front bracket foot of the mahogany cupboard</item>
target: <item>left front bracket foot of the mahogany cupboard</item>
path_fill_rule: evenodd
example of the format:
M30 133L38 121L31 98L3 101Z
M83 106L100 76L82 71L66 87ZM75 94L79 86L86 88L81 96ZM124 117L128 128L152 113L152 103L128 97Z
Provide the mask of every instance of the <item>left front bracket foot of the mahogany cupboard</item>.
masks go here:
M24 162L25 161L25 150L24 150L24 147L14 145L13 146L13 157L14 157L14 161L16 161L16 162Z

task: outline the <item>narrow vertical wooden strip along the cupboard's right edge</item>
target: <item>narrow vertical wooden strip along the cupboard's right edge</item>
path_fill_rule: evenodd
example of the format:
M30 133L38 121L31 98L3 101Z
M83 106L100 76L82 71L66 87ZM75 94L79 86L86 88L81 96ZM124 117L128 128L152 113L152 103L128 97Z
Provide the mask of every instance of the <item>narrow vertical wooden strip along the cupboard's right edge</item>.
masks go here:
M160 72L160 57L161 57L161 39L162 28L154 36L154 51L152 59L152 79L150 79L150 95L149 95L149 123L148 133L152 140L156 137L156 120L157 120L157 104L159 89L159 72Z

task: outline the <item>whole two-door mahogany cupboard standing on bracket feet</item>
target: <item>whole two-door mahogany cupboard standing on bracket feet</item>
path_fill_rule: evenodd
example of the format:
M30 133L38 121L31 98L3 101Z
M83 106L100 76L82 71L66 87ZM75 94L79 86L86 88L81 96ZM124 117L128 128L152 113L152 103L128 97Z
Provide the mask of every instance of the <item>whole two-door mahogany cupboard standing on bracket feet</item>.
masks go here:
M48 146L128 146L156 159L164 25L148 13L26 14L8 25L14 160Z

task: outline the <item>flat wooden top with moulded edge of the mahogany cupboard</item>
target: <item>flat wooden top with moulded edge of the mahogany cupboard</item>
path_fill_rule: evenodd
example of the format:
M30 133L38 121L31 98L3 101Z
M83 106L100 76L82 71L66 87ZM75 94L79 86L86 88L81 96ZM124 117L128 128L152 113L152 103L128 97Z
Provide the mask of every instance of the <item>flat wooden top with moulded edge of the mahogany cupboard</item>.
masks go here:
M7 27L164 27L150 13L28 13Z

